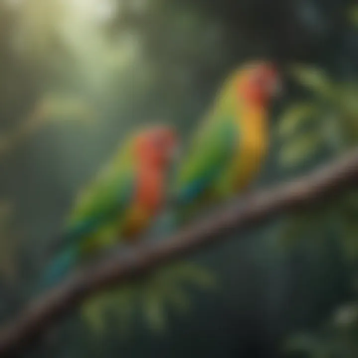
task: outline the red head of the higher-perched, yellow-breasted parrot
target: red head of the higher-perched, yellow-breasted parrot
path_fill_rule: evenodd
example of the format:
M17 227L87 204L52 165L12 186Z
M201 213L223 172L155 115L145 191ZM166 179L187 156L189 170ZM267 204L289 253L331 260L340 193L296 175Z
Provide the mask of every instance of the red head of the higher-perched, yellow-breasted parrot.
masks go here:
M281 82L272 63L254 62L239 71L236 84L240 99L266 106L280 92Z

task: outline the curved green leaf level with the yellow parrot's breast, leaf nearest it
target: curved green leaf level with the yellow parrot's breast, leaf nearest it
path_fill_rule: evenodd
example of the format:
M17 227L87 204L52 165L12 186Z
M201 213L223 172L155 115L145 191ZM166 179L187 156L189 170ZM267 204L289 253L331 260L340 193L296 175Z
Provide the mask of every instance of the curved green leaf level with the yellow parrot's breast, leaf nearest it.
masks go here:
M320 108L313 103L298 103L286 109L279 120L278 134L288 137L309 120L317 119Z

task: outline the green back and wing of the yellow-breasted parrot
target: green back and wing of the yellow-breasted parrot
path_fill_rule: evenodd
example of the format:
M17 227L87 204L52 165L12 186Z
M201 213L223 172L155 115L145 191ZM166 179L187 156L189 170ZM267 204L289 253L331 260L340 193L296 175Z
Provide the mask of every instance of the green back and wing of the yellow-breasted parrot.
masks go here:
M228 78L218 91L179 167L174 184L174 197L179 205L195 205L205 196L221 195L228 181L225 177L230 176L240 140L240 105L235 95L237 75Z

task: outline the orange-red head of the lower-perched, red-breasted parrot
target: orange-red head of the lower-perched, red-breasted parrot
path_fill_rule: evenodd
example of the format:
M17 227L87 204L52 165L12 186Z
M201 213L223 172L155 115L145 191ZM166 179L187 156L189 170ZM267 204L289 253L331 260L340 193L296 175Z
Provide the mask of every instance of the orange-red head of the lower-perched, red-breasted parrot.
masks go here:
M135 152L139 161L151 166L163 168L170 165L178 147L176 131L166 125L145 129L135 138Z

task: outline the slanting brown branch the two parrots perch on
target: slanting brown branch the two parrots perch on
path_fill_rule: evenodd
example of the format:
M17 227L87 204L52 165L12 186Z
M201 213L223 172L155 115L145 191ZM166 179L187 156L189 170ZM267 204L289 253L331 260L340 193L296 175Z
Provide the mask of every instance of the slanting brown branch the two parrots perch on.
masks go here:
M0 357L13 357L94 292L124 284L174 258L220 243L225 234L259 224L279 212L311 205L348 186L358 187L358 149L313 174L259 191L240 204L227 205L168 240L143 244L84 269L30 303L2 327Z

